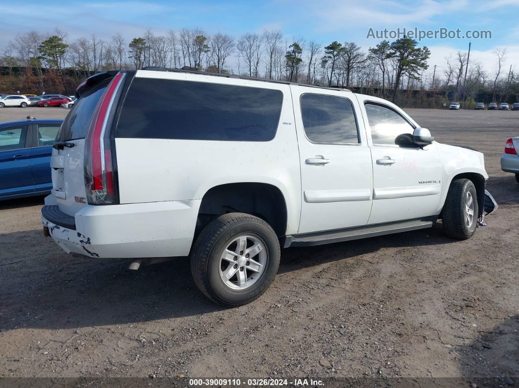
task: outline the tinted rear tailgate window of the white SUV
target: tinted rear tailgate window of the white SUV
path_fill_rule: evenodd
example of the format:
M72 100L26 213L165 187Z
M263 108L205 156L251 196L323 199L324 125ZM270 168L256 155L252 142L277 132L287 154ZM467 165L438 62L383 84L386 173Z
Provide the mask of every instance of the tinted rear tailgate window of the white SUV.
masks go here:
M61 124L57 140L68 141L85 138L95 107L110 81L109 79L100 82L76 100L74 108L66 115Z

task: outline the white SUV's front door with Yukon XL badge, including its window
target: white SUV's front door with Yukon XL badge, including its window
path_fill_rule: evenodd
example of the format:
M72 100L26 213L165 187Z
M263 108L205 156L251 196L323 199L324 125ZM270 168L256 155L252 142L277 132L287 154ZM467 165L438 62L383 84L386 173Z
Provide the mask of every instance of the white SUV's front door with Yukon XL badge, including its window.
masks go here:
M435 215L442 190L436 144L401 147L395 138L417 124L385 100L359 96L373 163L373 207L368 224Z

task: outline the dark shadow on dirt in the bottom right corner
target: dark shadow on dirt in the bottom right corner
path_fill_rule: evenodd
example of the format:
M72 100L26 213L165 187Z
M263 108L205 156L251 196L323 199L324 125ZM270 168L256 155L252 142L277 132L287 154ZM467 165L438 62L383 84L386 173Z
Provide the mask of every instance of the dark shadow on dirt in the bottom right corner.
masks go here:
M463 375L477 386L519 385L519 315L458 347Z

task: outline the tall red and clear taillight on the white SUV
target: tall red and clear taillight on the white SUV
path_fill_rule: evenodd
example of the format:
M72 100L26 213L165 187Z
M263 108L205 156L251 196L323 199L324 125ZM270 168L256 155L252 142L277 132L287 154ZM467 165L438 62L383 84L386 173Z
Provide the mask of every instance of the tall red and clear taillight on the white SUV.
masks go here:
M125 73L118 73L106 87L88 128L85 147L85 188L92 205L116 203L112 145L107 126L113 102Z

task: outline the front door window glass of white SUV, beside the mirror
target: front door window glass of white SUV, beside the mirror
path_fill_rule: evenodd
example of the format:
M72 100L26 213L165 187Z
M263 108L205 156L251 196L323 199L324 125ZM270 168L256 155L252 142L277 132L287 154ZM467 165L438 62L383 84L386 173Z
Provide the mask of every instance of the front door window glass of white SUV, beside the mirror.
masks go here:
M400 114L381 105L366 104L373 144L393 144L398 135L413 134L413 126Z

